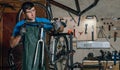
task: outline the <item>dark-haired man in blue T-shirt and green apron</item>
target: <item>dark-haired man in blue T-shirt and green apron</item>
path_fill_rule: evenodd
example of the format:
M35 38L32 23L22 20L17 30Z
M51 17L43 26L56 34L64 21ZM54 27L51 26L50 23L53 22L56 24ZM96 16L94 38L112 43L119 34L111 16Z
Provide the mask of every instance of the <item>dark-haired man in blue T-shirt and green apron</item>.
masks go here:
M10 45L12 48L18 45L20 42L22 36L21 36L21 27L26 23L26 22L42 22L45 23L43 24L43 28L45 30L51 30L52 25L49 20L45 18L39 18L36 17L36 9L35 6L32 2L25 2L22 5L22 10L23 13L25 14L25 19L19 21L16 26L14 27L11 40L10 40ZM46 24L47 23L47 24ZM31 23L34 24L34 23ZM44 33L45 34L45 33ZM45 37L45 36L44 36ZM23 70L41 70L40 67L40 60L41 60L41 49L40 47L38 48L38 56L36 59L36 63L34 65L34 59L35 59L35 52L36 52L36 46L37 46L37 41L39 38L39 28L36 26L29 26L26 27L26 33L24 35L23 39Z

